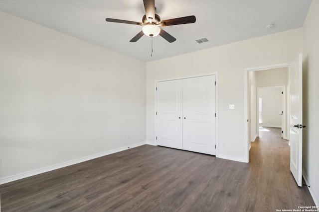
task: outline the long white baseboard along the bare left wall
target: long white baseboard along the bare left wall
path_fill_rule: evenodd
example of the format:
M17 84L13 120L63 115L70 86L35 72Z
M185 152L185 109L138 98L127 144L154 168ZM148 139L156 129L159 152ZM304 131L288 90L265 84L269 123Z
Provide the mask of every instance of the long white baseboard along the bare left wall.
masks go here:
M66 167L66 166L74 165L74 164L77 164L77 163L81 163L81 162L84 162L84 161L87 161L87 160L92 160L92 159L95 159L95 158L98 158L98 157L103 157L105 155L113 154L113 153L116 153L116 152L119 152L119 151L127 150L129 148L134 148L134 147L141 146L141 145L144 145L144 144L146 144L145 141L144 142L140 142L140 143L135 143L135 144L132 144L132 145L128 145L128 146L123 146L123 147L116 148L116 149L112 149L112 150L109 150L109 151L105 151L105 152L89 155L89 156L86 156L86 157L81 157L81 158L78 158L78 159L66 161L66 162L63 162L63 163L58 163L58 164L55 164L55 165L51 165L51 166L35 169L35 170L32 170L32 171L27 171L27 172L23 172L23 173L16 174L16 175L11 175L11 176L8 176L8 177L3 177L3 178L0 178L0 185L4 184L4 183L9 183L9 182L12 182L12 181L15 181L15 180L20 180L20 179L23 179L23 178L26 178L26 177L31 177L31 176L34 176L34 175L37 175L37 174L42 174L44 172L52 171L52 170L55 170L55 169L63 168L63 167Z

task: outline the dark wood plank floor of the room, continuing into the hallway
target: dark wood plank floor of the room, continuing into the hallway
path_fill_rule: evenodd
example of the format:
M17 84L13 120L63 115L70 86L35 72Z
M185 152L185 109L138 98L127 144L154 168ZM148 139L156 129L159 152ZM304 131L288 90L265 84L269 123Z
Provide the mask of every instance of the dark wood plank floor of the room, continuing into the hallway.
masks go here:
M250 162L143 145L0 185L2 212L276 212L315 206L289 170L288 141L264 128Z

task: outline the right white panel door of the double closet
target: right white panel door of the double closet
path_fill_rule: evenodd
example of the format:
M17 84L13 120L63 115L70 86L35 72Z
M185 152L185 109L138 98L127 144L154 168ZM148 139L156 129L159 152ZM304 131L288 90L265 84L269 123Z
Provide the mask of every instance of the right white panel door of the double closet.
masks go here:
M216 155L215 75L183 79L183 149Z

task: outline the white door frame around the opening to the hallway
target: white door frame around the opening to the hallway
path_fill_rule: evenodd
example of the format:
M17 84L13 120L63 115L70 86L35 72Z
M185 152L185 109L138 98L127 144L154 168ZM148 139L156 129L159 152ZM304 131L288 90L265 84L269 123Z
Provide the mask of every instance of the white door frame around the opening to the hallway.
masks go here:
M274 65L267 65L267 66L259 66L259 67L251 67L244 69L244 141L245 142L245 162L249 162L249 149L250 149L250 135L248 134L249 124L250 124L250 99L248 99L248 89L250 89L249 80L248 80L248 72L250 71L264 71L270 69L278 69L278 68L289 68L293 65L293 63L283 63L283 64L274 64Z

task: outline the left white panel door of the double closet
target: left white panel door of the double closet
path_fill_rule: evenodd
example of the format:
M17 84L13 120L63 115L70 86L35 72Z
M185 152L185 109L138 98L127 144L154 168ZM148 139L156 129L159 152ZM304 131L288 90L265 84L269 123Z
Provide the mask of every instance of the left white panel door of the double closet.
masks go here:
M158 82L158 145L182 149L182 130L182 80Z

